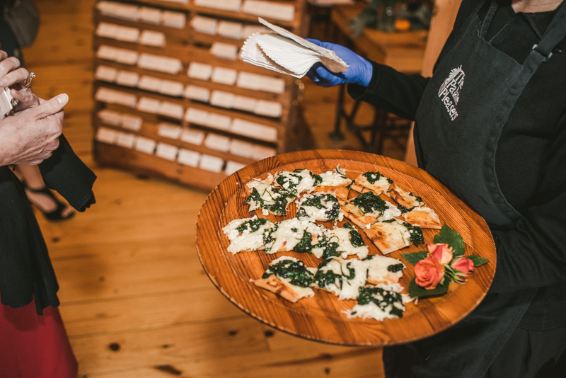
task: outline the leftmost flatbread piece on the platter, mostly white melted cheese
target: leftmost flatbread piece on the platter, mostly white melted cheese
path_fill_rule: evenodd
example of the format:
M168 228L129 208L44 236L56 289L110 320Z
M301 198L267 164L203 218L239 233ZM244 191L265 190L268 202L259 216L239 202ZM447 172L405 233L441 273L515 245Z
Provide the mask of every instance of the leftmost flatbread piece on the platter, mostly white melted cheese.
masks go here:
M266 240L274 226L272 222L258 218L257 215L251 218L234 219L222 229L230 241L228 251L235 255L242 251L265 249Z

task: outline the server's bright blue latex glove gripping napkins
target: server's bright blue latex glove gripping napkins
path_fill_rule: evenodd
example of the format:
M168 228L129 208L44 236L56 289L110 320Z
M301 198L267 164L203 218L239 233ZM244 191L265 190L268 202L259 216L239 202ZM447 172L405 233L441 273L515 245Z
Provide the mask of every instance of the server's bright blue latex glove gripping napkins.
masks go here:
M336 74L328 71L323 64L317 63L311 67L306 73L315 84L319 86L337 86L340 84L359 84L361 86L369 86L371 76L374 74L374 67L366 59L360 57L347 47L336 45L335 43L320 42L318 40L308 41L316 45L333 50L350 67L345 72Z

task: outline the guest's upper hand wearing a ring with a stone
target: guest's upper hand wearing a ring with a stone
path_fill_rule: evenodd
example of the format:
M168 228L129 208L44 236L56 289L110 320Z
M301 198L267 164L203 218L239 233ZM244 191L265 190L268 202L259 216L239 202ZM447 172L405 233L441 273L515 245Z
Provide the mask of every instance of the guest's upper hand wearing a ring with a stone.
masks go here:
M0 88L10 87L12 97L18 100L12 114L40 105L40 99L35 96L31 88L23 88L23 84L29 79L30 73L27 69L20 67L18 59L8 58L6 52L0 51Z

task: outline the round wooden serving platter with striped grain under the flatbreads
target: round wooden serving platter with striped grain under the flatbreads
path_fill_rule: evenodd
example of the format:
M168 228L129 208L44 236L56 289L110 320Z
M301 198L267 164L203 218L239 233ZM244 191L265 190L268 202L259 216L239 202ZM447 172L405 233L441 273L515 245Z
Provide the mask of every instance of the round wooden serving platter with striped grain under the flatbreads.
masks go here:
M229 240L222 228L233 219L252 217L245 204L244 185L253 178L266 178L267 173L306 168L313 173L332 171L336 166L346 169L346 176L356 178L366 171L380 171L401 188L417 193L427 206L432 207L442 222L456 229L466 244L466 255L489 258L490 262L475 269L466 285L451 283L449 292L441 297L420 299L407 305L400 319L348 319L342 312L354 307L354 300L337 300L333 294L315 290L315 296L291 303L272 292L253 285L250 280L261 277L275 258L293 256L308 267L322 261L308 253L274 253L262 251L226 251ZM357 193L350 191L350 196ZM280 222L295 216L296 207L289 206L285 217L270 214L271 222ZM262 214L257 212L259 217ZM347 221L347 219L345 219ZM338 222L339 225L345 223ZM333 223L325 226L333 228ZM423 229L424 242L432 243L438 230ZM369 254L381 254L363 232ZM400 257L401 253L423 251L424 245L410 246L388 256L400 258L407 268L400 284L408 287L414 277L413 267ZM273 156L258 161L233 173L207 197L197 219L197 251L204 270L220 292L233 304L254 318L296 336L340 345L394 345L427 338L444 331L463 319L483 299L495 274L495 245L484 220L427 172L402 161L359 151L314 150Z

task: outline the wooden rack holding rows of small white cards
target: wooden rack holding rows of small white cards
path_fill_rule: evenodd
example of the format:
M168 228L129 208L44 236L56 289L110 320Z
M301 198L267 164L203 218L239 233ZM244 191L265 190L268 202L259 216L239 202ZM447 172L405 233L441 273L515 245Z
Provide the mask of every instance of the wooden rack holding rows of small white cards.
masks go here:
M299 83L240 58L265 18L304 35L306 0L98 1L94 158L212 190L291 149Z

